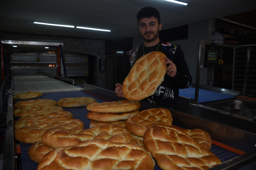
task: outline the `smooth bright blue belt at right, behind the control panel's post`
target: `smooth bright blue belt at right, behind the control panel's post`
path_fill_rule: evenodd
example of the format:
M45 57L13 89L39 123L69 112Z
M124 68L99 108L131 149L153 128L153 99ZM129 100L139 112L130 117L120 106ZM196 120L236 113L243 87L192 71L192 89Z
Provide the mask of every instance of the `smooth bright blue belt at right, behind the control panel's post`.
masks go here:
M187 89L180 89L179 96L195 99L195 91L196 91L196 88L194 87L189 87ZM198 103L232 99L232 98L235 98L235 96L199 89Z

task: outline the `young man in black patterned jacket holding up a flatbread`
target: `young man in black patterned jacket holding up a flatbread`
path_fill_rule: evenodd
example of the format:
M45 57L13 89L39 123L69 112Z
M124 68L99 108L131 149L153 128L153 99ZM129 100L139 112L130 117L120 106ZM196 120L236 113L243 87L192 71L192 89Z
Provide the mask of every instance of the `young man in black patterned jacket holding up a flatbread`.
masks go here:
M160 51L166 55L164 67L167 65L164 82L156 89L155 94L143 101L159 106L176 109L178 104L179 89L188 88L192 83L185 56L179 45L159 40L159 31L162 28L160 14L153 7L144 7L137 13L139 32L144 42L129 52L125 60L124 76L126 77L134 63L144 54ZM122 85L116 84L115 93L124 97Z

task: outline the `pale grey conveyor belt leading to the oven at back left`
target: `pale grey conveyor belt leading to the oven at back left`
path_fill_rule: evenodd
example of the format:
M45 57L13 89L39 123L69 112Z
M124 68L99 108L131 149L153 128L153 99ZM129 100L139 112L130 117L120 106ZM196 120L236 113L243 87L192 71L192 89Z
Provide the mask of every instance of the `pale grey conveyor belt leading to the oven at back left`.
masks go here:
M71 92L81 91L81 88L64 83L41 74L13 75L15 93L25 92Z

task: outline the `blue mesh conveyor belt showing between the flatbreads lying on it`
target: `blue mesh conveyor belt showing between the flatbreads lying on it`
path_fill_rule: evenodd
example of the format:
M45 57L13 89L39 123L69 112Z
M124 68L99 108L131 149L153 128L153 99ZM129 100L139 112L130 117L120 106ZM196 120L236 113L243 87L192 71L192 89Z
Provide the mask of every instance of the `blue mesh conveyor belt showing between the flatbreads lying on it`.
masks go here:
M84 91L80 92L54 92L54 93L44 93L42 97L37 98L37 99L52 99L55 101L58 101L62 98L66 97L92 97L94 98L97 102L101 103L106 100L101 99L100 97L96 97L92 94L86 93ZM21 100L16 100L16 102L21 101ZM87 113L89 112L86 110L86 107L76 107L76 108L66 108L63 107L64 111L71 112L74 115L75 119L80 119L81 121L84 122L84 129L88 129L90 126L90 120L87 118ZM32 161L29 156L28 156L28 148L32 144L24 144L20 142L20 151L21 151L21 167L23 170L36 170L38 163ZM232 158L235 158L239 154L230 152L224 148L221 148L215 144L212 144L211 152L214 153L216 156L220 158L221 161L227 161ZM155 166L154 170L160 170L160 168Z

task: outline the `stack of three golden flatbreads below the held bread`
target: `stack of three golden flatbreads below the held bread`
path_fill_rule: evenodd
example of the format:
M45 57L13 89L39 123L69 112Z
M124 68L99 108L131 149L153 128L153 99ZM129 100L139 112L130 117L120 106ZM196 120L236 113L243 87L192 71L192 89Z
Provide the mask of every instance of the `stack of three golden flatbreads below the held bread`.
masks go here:
M86 109L90 112L87 118L91 119L90 127L117 124L125 127L125 120L140 112L139 101L120 100L112 102L88 104Z

